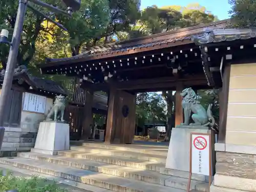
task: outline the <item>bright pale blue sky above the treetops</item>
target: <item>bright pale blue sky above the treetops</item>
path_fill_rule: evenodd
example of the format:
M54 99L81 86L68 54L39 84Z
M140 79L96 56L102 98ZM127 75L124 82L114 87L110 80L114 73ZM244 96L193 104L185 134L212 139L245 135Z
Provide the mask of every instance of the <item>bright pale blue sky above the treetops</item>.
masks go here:
M156 5L157 7L168 5L186 6L190 3L199 3L201 6L204 6L208 11L211 11L212 14L217 15L220 20L229 18L228 11L230 10L230 5L228 4L228 0L141 0L141 9L152 5Z

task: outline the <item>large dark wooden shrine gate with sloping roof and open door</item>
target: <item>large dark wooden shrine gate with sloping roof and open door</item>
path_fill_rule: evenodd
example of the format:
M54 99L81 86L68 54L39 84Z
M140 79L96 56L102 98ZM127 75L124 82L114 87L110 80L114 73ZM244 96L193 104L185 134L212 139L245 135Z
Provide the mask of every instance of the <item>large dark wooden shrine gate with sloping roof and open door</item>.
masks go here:
M222 87L221 73L215 70L221 58L207 60L208 53L191 36L226 24L227 20L222 20L96 47L70 58L47 59L40 69L45 74L75 76L87 90L83 139L90 135L93 92L101 90L109 93L105 142L132 143L136 93ZM181 100L176 94L176 124L183 120Z

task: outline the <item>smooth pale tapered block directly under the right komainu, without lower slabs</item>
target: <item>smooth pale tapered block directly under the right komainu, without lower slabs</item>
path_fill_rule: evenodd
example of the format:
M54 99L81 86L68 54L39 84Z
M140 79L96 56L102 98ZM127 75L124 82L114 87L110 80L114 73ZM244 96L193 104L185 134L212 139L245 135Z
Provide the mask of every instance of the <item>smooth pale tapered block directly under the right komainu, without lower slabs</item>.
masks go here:
M200 126L200 129L174 128L170 137L165 168L189 172L190 134L210 132L206 126Z

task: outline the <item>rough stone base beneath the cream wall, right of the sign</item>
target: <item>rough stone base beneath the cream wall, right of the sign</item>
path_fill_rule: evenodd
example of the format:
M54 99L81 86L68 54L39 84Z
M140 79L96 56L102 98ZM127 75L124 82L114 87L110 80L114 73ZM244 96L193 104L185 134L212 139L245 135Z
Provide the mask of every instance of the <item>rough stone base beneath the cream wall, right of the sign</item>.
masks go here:
M210 192L256 191L256 156L217 152L216 175Z

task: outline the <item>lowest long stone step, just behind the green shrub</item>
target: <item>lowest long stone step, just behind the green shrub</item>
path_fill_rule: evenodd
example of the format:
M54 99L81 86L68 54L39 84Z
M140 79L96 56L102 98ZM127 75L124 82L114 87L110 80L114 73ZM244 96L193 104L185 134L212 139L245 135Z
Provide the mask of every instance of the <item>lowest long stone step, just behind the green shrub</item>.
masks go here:
M26 159L21 157L0 158L0 163L32 170L38 173L65 178L84 184L90 184L116 192L185 192L185 190L182 189L91 172L84 169L51 164L34 159Z

